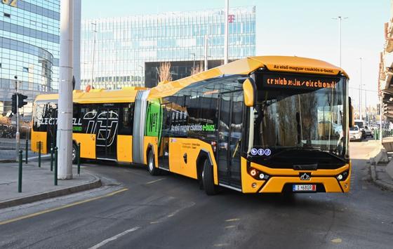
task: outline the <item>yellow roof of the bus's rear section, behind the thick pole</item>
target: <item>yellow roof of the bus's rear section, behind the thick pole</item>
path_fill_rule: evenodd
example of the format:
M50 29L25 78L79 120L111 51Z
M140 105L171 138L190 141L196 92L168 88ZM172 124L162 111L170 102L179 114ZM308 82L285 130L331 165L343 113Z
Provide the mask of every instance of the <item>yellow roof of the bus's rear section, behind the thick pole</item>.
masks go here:
M138 90L145 89L147 88L135 87L121 90L93 89L88 93L81 90L74 90L73 101L80 104L134 102ZM37 95L35 101L46 100L58 100L58 94Z

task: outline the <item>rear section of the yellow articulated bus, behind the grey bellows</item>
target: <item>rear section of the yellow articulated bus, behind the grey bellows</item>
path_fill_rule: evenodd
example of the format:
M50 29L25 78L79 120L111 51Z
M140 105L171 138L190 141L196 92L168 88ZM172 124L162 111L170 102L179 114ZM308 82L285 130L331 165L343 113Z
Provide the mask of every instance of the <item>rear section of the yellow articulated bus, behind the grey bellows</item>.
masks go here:
M93 89L73 93L73 148L72 160L76 162L76 146L81 143L81 158L129 162L132 160L133 114L138 90ZM58 95L38 95L34 101L32 151L50 152L56 144Z

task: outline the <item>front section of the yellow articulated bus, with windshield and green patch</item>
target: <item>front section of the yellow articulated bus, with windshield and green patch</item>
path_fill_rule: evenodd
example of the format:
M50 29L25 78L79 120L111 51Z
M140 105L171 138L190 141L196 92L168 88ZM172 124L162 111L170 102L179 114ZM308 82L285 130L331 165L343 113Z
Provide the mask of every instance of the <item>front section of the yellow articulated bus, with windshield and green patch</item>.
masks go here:
M139 163L152 175L192 177L206 194L349 191L348 76L327 62L245 58L142 101L134 135L144 134Z

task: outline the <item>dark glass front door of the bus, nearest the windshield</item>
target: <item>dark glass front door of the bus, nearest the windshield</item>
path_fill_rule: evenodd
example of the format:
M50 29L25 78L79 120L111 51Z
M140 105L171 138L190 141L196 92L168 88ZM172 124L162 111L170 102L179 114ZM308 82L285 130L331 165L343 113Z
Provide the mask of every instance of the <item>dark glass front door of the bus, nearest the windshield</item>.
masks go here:
M223 93L219 106L218 182L241 190L243 95L241 92Z

